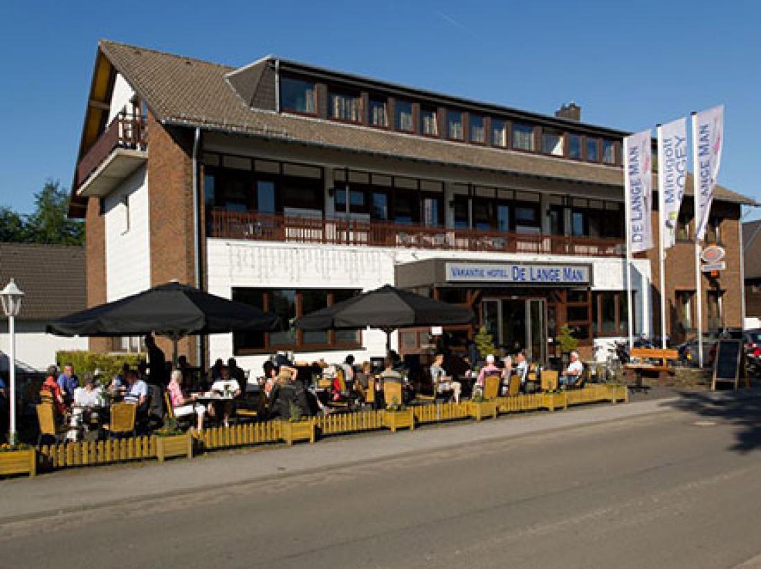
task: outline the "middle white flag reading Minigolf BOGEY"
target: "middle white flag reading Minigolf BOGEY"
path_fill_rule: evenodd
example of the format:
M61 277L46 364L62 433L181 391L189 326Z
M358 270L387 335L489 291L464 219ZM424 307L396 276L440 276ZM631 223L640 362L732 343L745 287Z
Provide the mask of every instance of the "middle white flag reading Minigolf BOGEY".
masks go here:
M684 183L687 178L687 120L677 119L661 126L658 138L658 188L663 212L661 231L664 249L677 243L677 219L682 207Z

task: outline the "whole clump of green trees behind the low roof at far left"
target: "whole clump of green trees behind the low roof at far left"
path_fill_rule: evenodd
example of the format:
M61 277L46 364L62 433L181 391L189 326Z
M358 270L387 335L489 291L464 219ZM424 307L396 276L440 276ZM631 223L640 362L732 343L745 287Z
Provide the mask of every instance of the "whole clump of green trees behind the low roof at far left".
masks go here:
M0 208L0 241L84 245L84 224L67 218L68 192L58 180L47 180L34 196L34 212L21 215Z

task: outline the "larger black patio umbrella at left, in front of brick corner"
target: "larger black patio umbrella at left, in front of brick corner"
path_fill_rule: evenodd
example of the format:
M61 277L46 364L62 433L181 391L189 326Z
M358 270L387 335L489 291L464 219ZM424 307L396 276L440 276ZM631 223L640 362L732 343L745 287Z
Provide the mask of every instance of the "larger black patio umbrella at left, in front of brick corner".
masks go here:
M278 317L248 304L200 291L188 284L169 282L107 304L69 314L47 325L62 336L137 336L151 332L174 343L189 334L217 334L272 330Z

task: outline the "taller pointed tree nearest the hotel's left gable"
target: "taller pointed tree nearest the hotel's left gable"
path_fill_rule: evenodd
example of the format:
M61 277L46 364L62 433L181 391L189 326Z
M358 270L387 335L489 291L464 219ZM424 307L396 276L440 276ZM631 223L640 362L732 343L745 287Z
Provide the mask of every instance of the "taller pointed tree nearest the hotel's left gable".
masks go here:
M68 199L58 180L47 180L34 196L35 211L27 219L34 243L84 245L84 224L68 219Z

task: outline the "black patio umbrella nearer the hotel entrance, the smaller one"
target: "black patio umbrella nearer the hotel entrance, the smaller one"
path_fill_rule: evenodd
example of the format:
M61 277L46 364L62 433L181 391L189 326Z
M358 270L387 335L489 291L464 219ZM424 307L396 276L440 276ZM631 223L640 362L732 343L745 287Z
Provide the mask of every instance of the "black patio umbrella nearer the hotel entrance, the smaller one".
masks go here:
M386 351L391 332L417 326L448 326L473 322L473 311L403 291L390 284L359 294L331 307L296 320L303 330L377 328L386 332Z

